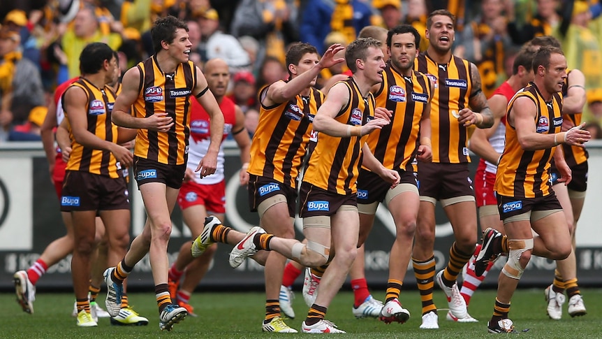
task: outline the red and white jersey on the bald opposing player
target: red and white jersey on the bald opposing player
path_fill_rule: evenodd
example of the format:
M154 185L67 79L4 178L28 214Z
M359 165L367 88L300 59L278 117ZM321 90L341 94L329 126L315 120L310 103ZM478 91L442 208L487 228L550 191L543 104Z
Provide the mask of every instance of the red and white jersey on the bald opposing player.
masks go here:
M192 102L192 110L190 117L190 146L189 146L189 154L188 154L188 163L186 167L191 168L193 171L196 170L196 166L200 162L200 159L205 157L207 154L207 150L209 149L209 144L211 142L211 134L210 134L210 122L209 115L205 111L205 108L196 101L196 99L191 100ZM234 101L226 98L224 96L221 99L221 103L219 103L219 108L223 113L223 141L226 139L228 134L232 131L232 127L236 122L235 115L235 104ZM208 175L205 178L199 178L198 173L195 173L194 181L198 184L203 185L212 185L221 180L224 180L223 175L223 144L219 146L219 152L217 154L217 168L215 169L215 173L212 175Z

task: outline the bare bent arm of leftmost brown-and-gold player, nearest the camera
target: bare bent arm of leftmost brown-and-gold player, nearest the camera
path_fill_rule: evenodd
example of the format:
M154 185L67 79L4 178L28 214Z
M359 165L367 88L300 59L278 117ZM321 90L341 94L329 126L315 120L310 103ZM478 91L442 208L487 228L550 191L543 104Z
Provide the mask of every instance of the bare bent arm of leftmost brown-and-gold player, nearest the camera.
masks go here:
M71 124L71 133L75 141L80 145L94 150L107 150L111 152L115 156L115 159L124 166L132 164L133 155L128 149L98 138L96 134L88 131L88 97L84 89L80 87L68 88L64 94L63 105L65 108L65 118Z

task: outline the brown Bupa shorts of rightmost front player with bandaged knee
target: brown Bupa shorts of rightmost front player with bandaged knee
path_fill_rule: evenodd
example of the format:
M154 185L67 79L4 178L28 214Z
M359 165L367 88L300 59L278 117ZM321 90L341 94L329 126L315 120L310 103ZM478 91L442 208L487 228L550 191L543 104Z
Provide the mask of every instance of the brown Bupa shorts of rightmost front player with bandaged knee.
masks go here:
M554 191L541 198L515 198L513 196L497 196L499 219L504 220L529 211L562 210Z

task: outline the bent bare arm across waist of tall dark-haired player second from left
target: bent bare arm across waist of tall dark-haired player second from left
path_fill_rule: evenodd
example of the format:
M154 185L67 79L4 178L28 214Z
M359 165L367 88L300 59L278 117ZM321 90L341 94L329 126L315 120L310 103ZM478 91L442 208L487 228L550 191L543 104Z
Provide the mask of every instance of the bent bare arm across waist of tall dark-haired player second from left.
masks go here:
M140 69L132 67L124 74L122 92L117 96L111 120L114 124L130 129L149 129L166 132L173 126L173 119L165 112L154 113L149 117L134 117L130 108L140 95Z

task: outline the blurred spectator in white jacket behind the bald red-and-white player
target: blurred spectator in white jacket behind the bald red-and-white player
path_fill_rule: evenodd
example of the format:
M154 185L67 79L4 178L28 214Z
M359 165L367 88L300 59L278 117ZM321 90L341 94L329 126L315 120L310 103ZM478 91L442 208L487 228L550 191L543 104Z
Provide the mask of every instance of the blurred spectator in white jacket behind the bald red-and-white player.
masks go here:
M249 55L244 52L236 38L219 31L219 17L216 10L210 8L205 11L198 23L202 39L200 55L203 62L215 58L223 59L232 73L249 66Z

